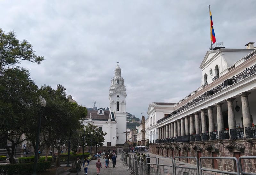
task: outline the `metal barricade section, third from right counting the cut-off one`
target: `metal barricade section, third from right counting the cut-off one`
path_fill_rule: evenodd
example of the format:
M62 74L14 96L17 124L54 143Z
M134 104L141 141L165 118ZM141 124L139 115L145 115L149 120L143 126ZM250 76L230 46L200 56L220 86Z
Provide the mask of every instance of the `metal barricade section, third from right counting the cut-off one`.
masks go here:
M196 159L196 167L192 165L191 167L188 166L179 166L176 164L176 159ZM183 162L182 162L183 163ZM198 159L197 157L174 157L174 167L175 167L175 174L176 175L198 175L199 174L199 166L198 166Z

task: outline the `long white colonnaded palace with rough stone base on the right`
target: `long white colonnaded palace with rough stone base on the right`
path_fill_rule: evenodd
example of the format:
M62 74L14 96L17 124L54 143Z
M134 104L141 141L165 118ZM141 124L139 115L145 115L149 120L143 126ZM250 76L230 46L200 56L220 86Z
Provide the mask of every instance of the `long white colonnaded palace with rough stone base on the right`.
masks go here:
M202 165L233 171L236 164L218 157L256 155L256 50L215 48L207 51L200 65L198 89L156 115L149 105L150 152L162 156L213 156ZM196 164L193 160L181 161ZM255 172L253 160L244 168Z

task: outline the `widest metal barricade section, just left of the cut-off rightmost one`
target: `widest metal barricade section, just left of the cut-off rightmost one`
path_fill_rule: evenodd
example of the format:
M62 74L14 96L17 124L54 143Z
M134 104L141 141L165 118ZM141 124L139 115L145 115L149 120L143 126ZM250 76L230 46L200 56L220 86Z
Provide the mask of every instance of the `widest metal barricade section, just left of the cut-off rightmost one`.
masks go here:
M229 172L229 171L222 171L222 170L217 170L217 169L203 168L202 163L201 163L202 159L230 159L230 160L234 160L236 162L237 172ZM234 174L234 175L240 175L240 169L239 169L238 160L237 160L236 157L200 157L199 158L199 170L200 170L200 175L204 175L204 174L211 174L211 175Z

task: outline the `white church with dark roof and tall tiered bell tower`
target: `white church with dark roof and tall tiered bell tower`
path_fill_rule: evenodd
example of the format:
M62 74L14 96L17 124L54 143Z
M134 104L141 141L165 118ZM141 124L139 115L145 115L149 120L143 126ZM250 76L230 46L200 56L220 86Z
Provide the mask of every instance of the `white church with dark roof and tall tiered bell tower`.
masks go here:
M100 131L107 133L103 146L123 145L126 141L126 96L124 79L117 63L109 88L109 110L88 110L88 115L83 121L84 125L97 125Z

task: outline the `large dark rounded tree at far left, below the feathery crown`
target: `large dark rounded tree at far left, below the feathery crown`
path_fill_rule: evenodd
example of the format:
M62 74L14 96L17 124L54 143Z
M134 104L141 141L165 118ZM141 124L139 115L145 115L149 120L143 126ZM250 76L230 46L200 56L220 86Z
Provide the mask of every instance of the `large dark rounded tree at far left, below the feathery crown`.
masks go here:
M15 147L27 139L23 136L37 121L38 88L28 70L19 67L6 69L0 84L0 141L6 144L10 163L16 163ZM7 140L12 145L7 145Z

